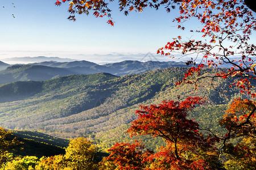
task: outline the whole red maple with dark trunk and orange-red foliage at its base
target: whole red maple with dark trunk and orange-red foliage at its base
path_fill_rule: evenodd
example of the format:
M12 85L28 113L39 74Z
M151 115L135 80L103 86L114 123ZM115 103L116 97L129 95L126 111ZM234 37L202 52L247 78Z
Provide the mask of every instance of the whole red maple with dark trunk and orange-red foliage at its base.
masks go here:
M133 135L162 137L166 146L148 156L151 169L210 169L216 166L218 141L212 135L204 137L199 124L187 118L196 105L203 104L201 97L188 97L184 101L163 101L158 106L141 106L138 119L127 130ZM218 165L220 167L220 165Z

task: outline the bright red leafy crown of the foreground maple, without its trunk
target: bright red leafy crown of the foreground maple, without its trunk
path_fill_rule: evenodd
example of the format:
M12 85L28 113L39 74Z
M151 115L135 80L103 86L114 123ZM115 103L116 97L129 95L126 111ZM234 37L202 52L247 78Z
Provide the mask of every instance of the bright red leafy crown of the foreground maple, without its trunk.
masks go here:
M174 142L172 136L179 133L180 139L188 139L197 133L199 125L186 117L196 104L203 104L201 97L188 97L185 101L163 101L158 106L140 106L136 111L138 119L131 123L127 130L133 135L151 134L153 137L163 137L168 142Z

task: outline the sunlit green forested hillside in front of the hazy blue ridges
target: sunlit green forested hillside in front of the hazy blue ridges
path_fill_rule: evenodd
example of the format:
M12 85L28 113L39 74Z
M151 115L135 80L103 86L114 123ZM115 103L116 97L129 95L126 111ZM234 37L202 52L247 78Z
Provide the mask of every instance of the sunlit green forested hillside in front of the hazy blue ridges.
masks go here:
M135 120L134 113L140 104L159 104L162 100L177 100L177 96L180 100L188 96L208 97L207 107L198 108L191 117L203 126L217 125L225 104L234 97L242 97L238 90L226 86L233 79L216 79L211 84L204 79L199 82L200 91L191 84L175 86L186 70L170 67L123 77L99 73L3 84L0 125L37 130L60 138L85 136L112 145L129 140L125 131ZM207 69L201 75L216 71ZM218 114L211 114L216 110Z

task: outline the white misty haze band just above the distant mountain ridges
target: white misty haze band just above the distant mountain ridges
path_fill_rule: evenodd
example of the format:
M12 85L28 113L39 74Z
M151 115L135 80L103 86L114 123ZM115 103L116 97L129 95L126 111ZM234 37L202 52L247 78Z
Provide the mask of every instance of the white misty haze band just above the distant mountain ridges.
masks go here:
M1 51L0 51L1 52ZM72 52L72 51L39 51L39 50L16 50L16 51L2 51L2 55L0 54L0 60L6 61L8 60L10 63L10 59L6 58L14 58L14 57L36 57L36 56L45 56L45 57L59 57L59 58L71 58L76 60L85 60L90 62L95 62L98 64L104 63L114 63L121 62L125 60L136 60L141 62L146 61L186 61L190 59L190 57L180 58L180 54L175 54L175 58L172 59L167 56L161 56L155 53L118 53L111 52L106 54L88 54L82 52ZM180 58L180 59L179 59ZM16 59L15 59L16 60ZM14 63L15 61L12 61Z

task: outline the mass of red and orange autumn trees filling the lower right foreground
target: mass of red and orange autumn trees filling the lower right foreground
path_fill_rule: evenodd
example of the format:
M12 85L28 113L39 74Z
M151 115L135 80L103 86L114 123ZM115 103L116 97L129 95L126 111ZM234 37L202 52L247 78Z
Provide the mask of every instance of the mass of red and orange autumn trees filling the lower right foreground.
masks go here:
M154 153L139 142L116 143L101 169L252 169L256 165L256 104L235 99L219 121L228 132L224 137L203 135L188 112L204 103L200 97L163 101L136 111L137 120L127 132L161 137L165 146ZM238 139L230 143L230 139ZM217 143L216 142L220 142ZM221 145L224 144L224 145ZM218 147L217 147L218 146ZM221 146L219 148L219 146ZM219 152L220 151L220 152ZM224 156L225 155L225 156Z

